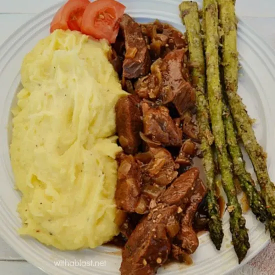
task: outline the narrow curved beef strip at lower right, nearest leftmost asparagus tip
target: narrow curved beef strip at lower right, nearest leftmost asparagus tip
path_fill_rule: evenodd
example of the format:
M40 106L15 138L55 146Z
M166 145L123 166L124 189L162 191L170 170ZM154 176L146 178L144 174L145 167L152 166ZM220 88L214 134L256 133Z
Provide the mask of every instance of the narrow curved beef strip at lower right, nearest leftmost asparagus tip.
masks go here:
M180 230L176 236L176 238L181 242L181 248L188 254L192 254L198 246L198 238L196 232L192 228L192 220L197 210L197 206L205 194L205 186L200 179L197 179L189 205L187 206L185 213L182 215Z

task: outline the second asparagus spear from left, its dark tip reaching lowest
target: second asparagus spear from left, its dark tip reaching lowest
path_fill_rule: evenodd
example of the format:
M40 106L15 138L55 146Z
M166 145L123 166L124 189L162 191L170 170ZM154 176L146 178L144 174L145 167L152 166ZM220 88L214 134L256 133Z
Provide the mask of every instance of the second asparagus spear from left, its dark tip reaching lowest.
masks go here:
M232 243L239 262L245 257L250 247L245 219L237 200L236 189L232 178L232 163L226 148L225 132L222 120L222 93L218 65L218 10L216 0L203 0L205 27L205 57L209 113L212 132L217 152L224 191L227 196L227 209L230 214L230 231Z

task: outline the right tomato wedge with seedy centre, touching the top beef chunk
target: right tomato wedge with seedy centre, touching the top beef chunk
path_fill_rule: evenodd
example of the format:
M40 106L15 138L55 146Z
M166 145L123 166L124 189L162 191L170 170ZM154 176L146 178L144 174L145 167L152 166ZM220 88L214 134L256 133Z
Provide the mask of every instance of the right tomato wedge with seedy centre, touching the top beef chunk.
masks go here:
M86 7L81 23L81 31L96 39L115 41L119 22L125 6L115 0L96 0Z

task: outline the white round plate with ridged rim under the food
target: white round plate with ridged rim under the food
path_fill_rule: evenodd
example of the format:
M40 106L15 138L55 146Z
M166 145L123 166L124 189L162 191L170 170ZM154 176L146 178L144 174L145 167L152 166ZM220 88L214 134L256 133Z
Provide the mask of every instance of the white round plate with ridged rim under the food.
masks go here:
M121 0L127 6L126 12L138 21L153 19L167 21L181 31L184 27L178 16L180 0ZM120 251L114 247L101 246L93 250L61 252L46 247L32 238L22 238L16 229L21 221L16 212L20 194L13 189L13 175L9 159L10 106L20 83L20 65L23 56L36 42L48 35L49 23L59 4L35 16L22 25L0 47L0 234L27 261L43 269L48 274L119 274ZM275 53L252 30L240 20L238 24L238 50L242 66L239 78L239 94L247 105L248 113L256 118L255 133L268 152L268 168L271 179L275 180L274 129L275 129ZM273 108L272 108L273 107ZM249 171L252 166L247 161ZM255 256L267 243L269 234L264 225L256 221L249 211L245 214L249 228L251 248L242 264ZM199 236L199 247L192 255L193 264L173 263L158 270L158 274L225 274L238 267L237 258L230 244L228 214L223 218L224 240L220 251L216 251L208 233ZM105 266L55 266L54 261L105 260ZM72 265L73 263L70 263ZM86 263L87 265L88 263Z

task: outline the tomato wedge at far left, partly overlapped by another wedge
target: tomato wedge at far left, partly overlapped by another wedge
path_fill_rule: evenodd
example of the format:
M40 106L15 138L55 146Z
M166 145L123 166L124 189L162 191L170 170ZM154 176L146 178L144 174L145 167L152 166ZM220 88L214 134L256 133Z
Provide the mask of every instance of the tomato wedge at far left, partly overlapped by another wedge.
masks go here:
M82 15L89 3L89 0L68 0L55 13L50 23L50 32L57 28L80 31Z

